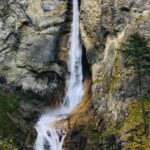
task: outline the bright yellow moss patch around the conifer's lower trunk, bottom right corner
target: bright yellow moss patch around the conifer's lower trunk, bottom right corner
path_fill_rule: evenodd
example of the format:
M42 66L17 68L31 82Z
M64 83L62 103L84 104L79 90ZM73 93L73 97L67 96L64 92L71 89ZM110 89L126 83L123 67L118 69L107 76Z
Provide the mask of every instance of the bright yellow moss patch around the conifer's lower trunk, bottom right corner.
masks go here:
M147 121L150 120L150 98L143 98L147 112ZM128 141L126 149L136 149L137 147L144 150L150 149L150 138L144 134L144 123L140 108L140 101L130 101L127 108L128 119L125 121L122 131L123 138ZM131 140L132 139L132 140Z

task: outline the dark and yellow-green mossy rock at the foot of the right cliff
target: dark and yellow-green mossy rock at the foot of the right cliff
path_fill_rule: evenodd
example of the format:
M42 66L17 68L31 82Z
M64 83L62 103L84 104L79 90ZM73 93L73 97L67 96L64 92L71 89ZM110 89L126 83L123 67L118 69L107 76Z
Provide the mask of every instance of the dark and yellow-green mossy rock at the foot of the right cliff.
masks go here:
M150 127L150 98L143 98L143 101ZM150 133L144 133L140 101L130 100L126 111L126 118L112 120L109 116L103 116L103 119L98 120L100 117L95 116L89 123L75 126L67 135L65 148L70 150L71 146L77 146L83 150L149 150ZM79 142L82 136L86 139L84 143Z

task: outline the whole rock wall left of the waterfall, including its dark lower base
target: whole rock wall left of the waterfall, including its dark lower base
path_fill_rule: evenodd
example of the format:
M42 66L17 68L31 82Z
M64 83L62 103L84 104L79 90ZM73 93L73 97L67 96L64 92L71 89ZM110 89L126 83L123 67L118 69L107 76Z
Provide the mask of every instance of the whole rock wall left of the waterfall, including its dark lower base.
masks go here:
M29 143L30 138L25 139L30 137L38 113L62 100L70 21L71 3L67 0L0 1L0 97L11 103L16 97L9 93L19 95L17 108L13 105L7 117L21 146Z

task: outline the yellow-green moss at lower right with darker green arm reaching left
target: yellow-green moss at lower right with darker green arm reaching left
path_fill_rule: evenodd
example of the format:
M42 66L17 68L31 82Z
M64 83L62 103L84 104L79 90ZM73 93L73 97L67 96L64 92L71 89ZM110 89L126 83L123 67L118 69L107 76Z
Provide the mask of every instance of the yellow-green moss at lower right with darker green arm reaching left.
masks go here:
M150 98L143 98L145 109L147 112L147 121L150 128ZM113 134L125 141L124 149L150 149L150 137L144 134L143 118L139 100L132 100L127 106L127 118L111 120L105 116L105 127L102 132L89 132L89 138L93 142L99 142L100 139L105 139ZM122 120L122 121L121 121ZM118 121L120 122L118 124ZM150 133L149 133L150 134Z

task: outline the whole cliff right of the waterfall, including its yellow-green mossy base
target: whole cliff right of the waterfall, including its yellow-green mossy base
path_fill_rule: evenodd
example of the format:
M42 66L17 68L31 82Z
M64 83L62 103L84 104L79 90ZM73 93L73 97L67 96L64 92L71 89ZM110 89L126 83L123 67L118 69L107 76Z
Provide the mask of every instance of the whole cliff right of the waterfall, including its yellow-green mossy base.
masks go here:
M136 75L132 67L125 67L125 58L120 49L133 33L138 32L150 39L150 2L81 0L80 9L81 39L91 65L92 105L96 115L93 125L90 125L91 121L89 125L80 124L69 133L72 142L68 147L149 149L139 113ZM144 76L142 91L148 99L149 83L150 77ZM149 120L149 102L145 102L145 105ZM76 137L81 141L77 141Z

